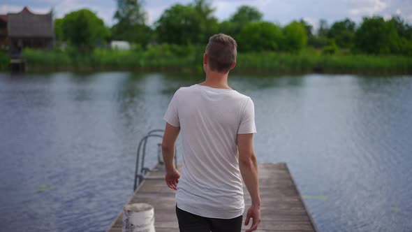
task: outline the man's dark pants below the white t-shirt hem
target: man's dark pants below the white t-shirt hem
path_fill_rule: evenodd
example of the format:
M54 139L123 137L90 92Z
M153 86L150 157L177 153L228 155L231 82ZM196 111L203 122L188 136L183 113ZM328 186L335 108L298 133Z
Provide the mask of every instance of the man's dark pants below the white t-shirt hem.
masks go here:
M177 208L177 221L180 232L240 232L243 216L232 219L219 219L193 215Z

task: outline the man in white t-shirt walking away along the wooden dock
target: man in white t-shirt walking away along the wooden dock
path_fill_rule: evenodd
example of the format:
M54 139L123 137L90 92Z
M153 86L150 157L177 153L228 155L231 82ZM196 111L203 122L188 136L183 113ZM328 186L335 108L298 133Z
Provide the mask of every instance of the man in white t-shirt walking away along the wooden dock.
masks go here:
M177 190L176 214L182 232L240 231L244 199L242 177L251 196L245 225L260 223L253 101L228 86L237 44L225 34L209 38L203 68L206 80L175 92L165 113L165 181ZM182 175L173 165L182 132Z

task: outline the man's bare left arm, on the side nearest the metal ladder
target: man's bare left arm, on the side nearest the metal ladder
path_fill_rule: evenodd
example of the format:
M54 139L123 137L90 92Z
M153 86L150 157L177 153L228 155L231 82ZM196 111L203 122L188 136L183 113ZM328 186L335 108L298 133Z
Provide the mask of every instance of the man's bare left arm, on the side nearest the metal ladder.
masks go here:
M177 136L179 136L179 132L179 126L172 126L171 124L166 123L162 142L162 154L166 171L165 181L170 189L175 190L177 190L177 183L179 182L180 173L177 171L177 167L175 167L173 158L175 157L176 140Z

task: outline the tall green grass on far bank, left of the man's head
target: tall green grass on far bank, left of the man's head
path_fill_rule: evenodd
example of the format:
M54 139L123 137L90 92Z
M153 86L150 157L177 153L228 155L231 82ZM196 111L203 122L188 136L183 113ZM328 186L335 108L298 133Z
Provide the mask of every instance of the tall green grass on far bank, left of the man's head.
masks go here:
M152 47L147 50L94 50L91 54L80 55L68 51L24 50L24 59L29 69L93 69L93 70L180 70L195 68L201 57L195 57L195 52L187 55L176 55L170 48L164 46Z

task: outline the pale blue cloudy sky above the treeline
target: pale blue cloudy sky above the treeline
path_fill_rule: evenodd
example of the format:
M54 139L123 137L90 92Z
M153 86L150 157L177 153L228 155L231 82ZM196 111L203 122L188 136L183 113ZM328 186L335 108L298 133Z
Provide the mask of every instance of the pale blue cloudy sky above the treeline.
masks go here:
M193 0L146 0L145 10L148 23L159 19L166 8L175 3L191 3ZM214 15L219 20L226 20L242 5L255 6L263 13L265 21L285 25L293 20L304 19L316 29L318 22L325 19L332 24L346 17L360 22L363 16L381 15L390 18L400 15L409 24L412 23L412 0L209 0L216 8ZM51 8L57 17L80 8L89 8L111 26L116 10L115 0L1 0L0 14L18 12L28 6L34 13L47 13Z

